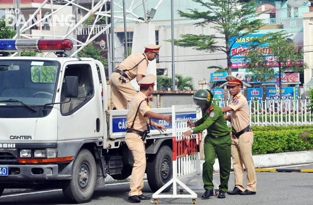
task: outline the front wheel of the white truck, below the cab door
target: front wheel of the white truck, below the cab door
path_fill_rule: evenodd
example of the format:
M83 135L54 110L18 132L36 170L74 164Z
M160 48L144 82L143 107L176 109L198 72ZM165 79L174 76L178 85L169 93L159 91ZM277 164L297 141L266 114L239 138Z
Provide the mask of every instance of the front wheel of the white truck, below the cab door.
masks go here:
M94 191L97 169L89 150L81 150L73 165L72 179L63 183L63 194L71 203L87 202Z

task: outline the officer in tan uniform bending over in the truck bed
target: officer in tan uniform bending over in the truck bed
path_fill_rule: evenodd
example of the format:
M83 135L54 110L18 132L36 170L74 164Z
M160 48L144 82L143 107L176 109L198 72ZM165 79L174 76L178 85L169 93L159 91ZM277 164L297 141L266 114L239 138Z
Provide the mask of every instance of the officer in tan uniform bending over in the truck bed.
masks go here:
M150 44L144 47L144 53L129 55L111 75L112 99L118 110L127 109L127 104L130 104L137 93L130 81L136 78L139 82L146 76L149 60L154 60L159 55L161 45ZM152 96L149 98L152 99Z

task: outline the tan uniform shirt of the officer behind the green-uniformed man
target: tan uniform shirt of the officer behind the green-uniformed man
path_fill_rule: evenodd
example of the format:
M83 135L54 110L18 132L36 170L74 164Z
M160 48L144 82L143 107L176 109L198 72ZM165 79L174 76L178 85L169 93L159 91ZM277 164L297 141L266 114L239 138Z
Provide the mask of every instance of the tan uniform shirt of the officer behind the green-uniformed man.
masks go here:
M239 132L249 125L250 112L247 99L239 92L233 99L232 104L228 105L233 111L230 111L232 126Z

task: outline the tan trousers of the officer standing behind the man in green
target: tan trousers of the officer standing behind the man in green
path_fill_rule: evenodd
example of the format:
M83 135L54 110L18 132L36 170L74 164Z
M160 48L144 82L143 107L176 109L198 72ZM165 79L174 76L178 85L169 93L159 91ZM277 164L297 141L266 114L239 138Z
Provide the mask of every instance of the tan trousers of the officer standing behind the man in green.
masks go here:
M232 135L232 160L235 172L235 186L244 191L243 164L247 171L247 189L256 191L256 175L252 158L253 132L245 132L236 138Z

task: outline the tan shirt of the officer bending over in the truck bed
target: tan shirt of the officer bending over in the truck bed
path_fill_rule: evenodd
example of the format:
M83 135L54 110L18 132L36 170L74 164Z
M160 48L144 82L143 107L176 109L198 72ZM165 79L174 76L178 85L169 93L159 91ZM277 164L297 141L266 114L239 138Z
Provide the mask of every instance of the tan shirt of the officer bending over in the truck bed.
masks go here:
M142 62L140 62L143 58ZM136 67L134 67L138 62L140 62ZM128 56L121 64L119 64L116 69L121 71L123 70L130 70L134 67L131 71L125 71L125 74L128 76L128 79L131 81L136 78L137 74L146 76L147 74L147 67L148 67L148 58L144 53L134 53Z

